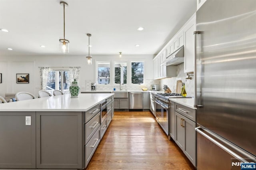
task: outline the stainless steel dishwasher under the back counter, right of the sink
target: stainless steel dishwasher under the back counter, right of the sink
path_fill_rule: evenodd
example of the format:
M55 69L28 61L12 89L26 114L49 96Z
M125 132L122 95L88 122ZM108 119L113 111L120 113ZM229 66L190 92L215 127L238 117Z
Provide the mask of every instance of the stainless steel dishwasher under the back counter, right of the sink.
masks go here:
M142 92L129 93L129 109L143 109L143 94Z

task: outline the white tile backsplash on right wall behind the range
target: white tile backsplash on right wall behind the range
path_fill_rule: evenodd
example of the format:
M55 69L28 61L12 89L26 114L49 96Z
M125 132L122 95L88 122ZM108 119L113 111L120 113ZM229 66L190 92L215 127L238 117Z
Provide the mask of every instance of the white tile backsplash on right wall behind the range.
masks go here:
M176 93L176 82L181 80L182 83L185 83L185 89L188 96L194 97L194 76L192 79L186 79L187 74L184 73L184 63L177 65L177 77L161 79L160 90L163 90L163 85L167 85L172 93Z

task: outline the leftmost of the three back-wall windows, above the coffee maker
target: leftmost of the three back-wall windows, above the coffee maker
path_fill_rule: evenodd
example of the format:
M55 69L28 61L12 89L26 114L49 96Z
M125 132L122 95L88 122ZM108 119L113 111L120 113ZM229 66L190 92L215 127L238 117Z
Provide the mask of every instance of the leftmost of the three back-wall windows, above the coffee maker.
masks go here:
M110 62L98 61L97 62L97 83L109 84L110 83Z

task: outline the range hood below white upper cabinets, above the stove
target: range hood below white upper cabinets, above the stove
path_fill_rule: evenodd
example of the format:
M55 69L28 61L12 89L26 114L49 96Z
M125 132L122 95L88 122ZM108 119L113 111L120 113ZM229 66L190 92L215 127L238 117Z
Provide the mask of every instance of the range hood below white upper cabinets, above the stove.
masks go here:
M184 62L184 45L166 58L166 65L178 65Z

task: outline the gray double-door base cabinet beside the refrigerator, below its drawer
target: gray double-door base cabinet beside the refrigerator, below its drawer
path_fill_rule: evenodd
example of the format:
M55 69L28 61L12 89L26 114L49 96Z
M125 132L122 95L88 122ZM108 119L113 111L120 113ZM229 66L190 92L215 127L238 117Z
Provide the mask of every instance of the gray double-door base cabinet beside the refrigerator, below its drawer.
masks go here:
M196 166L196 123L175 112L175 142Z

